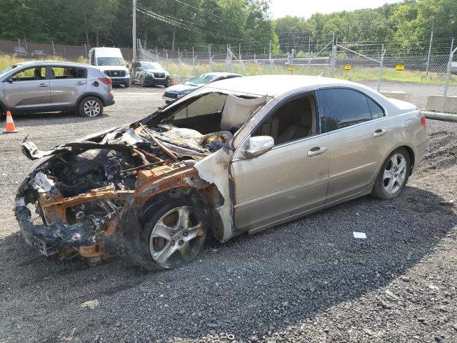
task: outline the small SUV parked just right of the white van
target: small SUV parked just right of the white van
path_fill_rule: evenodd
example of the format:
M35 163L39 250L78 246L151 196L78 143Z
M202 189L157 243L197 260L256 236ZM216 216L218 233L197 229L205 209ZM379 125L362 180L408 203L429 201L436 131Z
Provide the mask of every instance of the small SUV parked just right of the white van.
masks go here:
M157 62L137 61L131 64L130 82L144 86L170 85L170 74Z

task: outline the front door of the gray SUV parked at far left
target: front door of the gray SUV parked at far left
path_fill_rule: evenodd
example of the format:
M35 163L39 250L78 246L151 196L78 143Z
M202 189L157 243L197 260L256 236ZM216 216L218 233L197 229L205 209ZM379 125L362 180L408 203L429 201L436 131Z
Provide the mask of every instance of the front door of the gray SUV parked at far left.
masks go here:
M6 105L9 109L44 109L51 106L49 78L45 66L21 69L4 81Z

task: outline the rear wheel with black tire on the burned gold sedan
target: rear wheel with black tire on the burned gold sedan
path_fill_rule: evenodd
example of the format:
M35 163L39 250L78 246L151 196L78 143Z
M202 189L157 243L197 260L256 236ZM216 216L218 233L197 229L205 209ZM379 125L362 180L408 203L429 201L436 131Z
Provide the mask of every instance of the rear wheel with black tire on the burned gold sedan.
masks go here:
M396 167L393 166L392 159L397 161L401 161L399 157L394 156L403 156L404 161L406 162L405 169L396 171ZM399 165L399 164L398 164ZM392 171L393 177L387 177ZM385 174L386 172L386 174ZM386 161L383 162L381 169L379 170L378 177L376 177L376 182L373 187L373 191L371 195L373 197L379 199L393 199L398 197L403 189L406 187L406 183L408 182L409 175L411 174L411 156L409 156L408 151L405 148L398 148L391 152L391 154L387 157ZM398 181L398 177L401 177L403 181ZM389 187L392 186L392 187ZM391 188L389 192L388 189Z

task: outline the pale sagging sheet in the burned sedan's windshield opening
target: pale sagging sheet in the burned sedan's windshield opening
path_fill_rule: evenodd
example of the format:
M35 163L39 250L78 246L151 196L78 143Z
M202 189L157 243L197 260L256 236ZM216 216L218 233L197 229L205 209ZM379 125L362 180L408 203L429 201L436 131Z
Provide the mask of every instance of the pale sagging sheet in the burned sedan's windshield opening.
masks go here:
M221 130L230 131L233 127L242 126L248 114L265 103L266 97L265 95L254 99L244 99L228 94L222 111Z

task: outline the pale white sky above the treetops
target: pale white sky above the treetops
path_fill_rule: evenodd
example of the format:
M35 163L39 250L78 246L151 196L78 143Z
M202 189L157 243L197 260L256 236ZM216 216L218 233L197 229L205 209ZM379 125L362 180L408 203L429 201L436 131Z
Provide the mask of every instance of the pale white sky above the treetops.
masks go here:
M270 14L274 19L283 16L309 18L316 12L327 14L354 9L376 9L383 4L396 2L400 0L271 0Z

